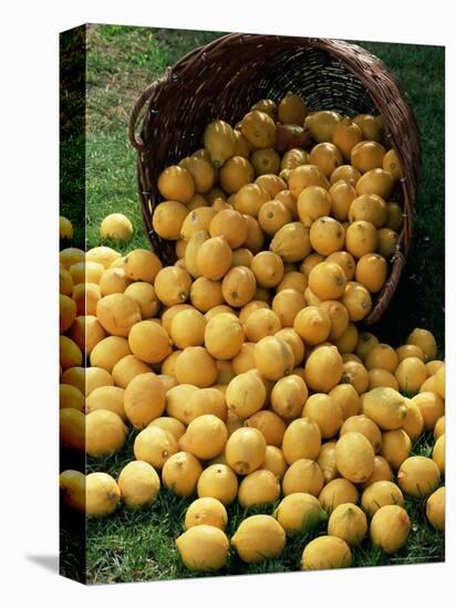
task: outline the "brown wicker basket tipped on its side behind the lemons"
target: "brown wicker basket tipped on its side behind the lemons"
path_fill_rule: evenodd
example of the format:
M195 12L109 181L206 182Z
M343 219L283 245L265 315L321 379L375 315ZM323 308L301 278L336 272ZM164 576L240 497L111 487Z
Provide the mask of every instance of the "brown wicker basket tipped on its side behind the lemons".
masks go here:
M158 175L201 146L203 132L211 119L236 124L258 99L280 99L288 91L301 94L310 109L335 109L349 116L382 114L387 141L397 151L404 177L395 195L403 205L404 226L390 276L364 319L371 325L387 308L405 265L421 146L400 83L377 57L355 44L236 33L195 49L168 67L137 99L128 128L138 153L138 192L147 235L162 261L173 264L174 242L160 239L152 227L154 207L160 201Z

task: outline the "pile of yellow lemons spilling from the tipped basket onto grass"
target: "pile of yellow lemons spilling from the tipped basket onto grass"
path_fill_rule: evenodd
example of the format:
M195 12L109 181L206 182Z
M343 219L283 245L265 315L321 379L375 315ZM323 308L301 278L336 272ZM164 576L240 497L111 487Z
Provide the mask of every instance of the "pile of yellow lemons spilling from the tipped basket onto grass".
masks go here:
M65 503L105 516L162 486L197 496L176 541L195 570L225 566L231 545L247 563L278 557L322 525L303 569L350 566L366 535L393 554L412 525L404 496L426 499L443 531L435 338L415 328L393 348L360 325L402 228L400 178L380 117L309 113L288 94L235 128L210 123L204 148L158 177L153 227L175 241L174 265L145 249L62 249L62 445L105 458L136 433L118 479L63 471ZM106 220L102 238L131 238L125 216ZM411 455L423 433L429 458ZM265 513L228 539L235 501Z

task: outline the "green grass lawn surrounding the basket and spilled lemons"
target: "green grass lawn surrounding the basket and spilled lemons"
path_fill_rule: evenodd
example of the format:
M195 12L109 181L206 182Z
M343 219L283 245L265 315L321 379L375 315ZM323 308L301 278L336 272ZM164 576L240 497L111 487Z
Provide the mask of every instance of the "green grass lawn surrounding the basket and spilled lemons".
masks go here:
M148 247L136 192L135 151L127 139L131 108L138 94L164 69L196 45L219 33L166 31L118 25L91 25L86 72L85 141L79 129L62 139L62 213L76 226L74 244L101 244L99 227L111 212L123 212L133 222L133 241L121 251ZM398 76L407 92L423 144L423 174L414 218L415 240L407 268L391 308L374 328L376 335L398 344L414 326L436 335L444 354L444 98L445 56L441 48L404 44L362 43ZM66 106L63 107L66 109ZM85 145L85 182L84 176ZM85 226L81 220L86 202ZM85 230L84 230L85 229ZM112 244L112 243L103 243ZM89 460L87 470L106 471L116 476L132 459L133 433L124 449L105 461ZM423 436L413 453L429 453L429 437ZM65 462L65 458L63 458ZM79 578L85 567L89 583L169 579L201 576L187 570L178 558L175 538L183 531L184 514L190 499L162 492L158 501L141 513L121 507L104 520L85 524L86 554L81 545L84 523L74 513L62 511L62 569ZM416 564L444 559L444 536L435 532L424 514L423 501L406 501L413 527L406 546L394 556L372 548L366 539L353 552L354 566ZM262 512L271 513L273 505ZM257 510L229 507L231 535L239 522ZM315 534L324 533L318 530ZM246 565L230 554L226 569L218 574L253 574L299 569L300 556L309 537L287 544L278 559ZM204 575L205 576L205 575Z

